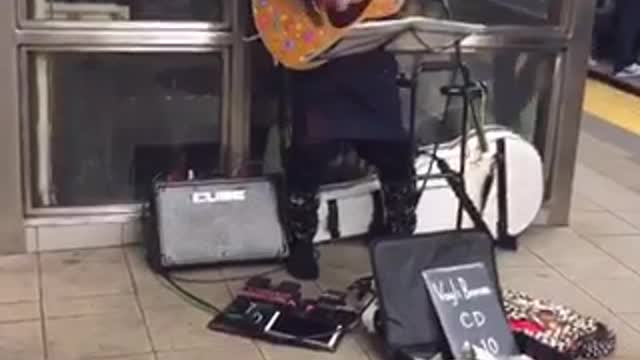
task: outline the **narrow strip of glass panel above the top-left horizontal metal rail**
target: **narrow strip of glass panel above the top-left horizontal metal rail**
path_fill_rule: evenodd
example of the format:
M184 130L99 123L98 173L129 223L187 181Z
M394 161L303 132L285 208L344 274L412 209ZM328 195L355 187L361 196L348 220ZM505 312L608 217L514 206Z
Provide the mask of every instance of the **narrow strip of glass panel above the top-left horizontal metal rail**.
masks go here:
M224 0L23 0L29 18L83 21L221 22Z

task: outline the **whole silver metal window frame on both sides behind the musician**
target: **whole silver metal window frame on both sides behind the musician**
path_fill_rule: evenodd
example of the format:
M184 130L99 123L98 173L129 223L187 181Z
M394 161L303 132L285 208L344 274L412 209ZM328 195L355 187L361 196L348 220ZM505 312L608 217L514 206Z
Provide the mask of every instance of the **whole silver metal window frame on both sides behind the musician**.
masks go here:
M224 24L197 22L82 22L29 20L26 14L27 0L0 1L0 71L6 94L0 100L0 253L24 251L25 215L44 213L24 211L26 189L24 145L21 126L24 125L22 103L25 101L18 78L19 52L23 48L82 49L95 48L126 49L128 52L171 50L199 51L198 49L226 48L230 56L228 66L229 93L227 149L224 149L227 170L242 163L248 155L250 92L247 69L247 45L244 32L248 28L249 0L226 1ZM543 95L539 114L545 124L539 142L536 143L545 163L548 196L546 209L548 224L566 225L571 204L571 193L576 160L581 104L586 80L586 59L591 37L595 0L557 0L552 4L550 21L560 24L552 27L496 27L496 32L483 37L465 40L465 51L495 49L522 49L551 51L555 55L550 65L551 82ZM502 31L501 31L502 30ZM538 37L536 40L535 38ZM544 40L544 39L546 40ZM527 40L528 39L528 40ZM553 40L556 39L556 40ZM553 40L553 41L552 41ZM553 45L550 45L552 44ZM545 50L546 48L546 50ZM22 60L21 60L22 61ZM232 62L233 61L233 62ZM24 72L24 69L22 70ZM20 75L22 76L22 75ZM18 97L18 91L22 98ZM225 101L226 102L226 101ZM22 157L21 157L22 155ZM27 184L27 186L24 186ZM118 205L91 208L47 209L48 215L133 215L139 205ZM107 214L107 215L105 215ZM113 216L113 215L108 215ZM126 217L125 216L125 217ZM41 218L44 219L44 218Z

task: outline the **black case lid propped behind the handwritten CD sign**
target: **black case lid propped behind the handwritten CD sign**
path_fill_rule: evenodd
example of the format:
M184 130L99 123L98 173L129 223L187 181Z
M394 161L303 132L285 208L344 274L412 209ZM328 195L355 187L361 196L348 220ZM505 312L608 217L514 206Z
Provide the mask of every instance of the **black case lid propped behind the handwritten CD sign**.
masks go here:
M500 293L493 239L486 232L456 230L379 239L369 250L389 359L431 359L450 353L425 289L423 270L481 262Z

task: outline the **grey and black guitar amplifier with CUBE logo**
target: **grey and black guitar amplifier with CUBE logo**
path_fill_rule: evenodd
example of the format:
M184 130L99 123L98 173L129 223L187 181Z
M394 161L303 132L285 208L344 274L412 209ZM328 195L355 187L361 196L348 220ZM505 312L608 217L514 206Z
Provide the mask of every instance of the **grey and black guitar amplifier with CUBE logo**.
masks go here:
M156 182L150 209L147 261L158 272L288 254L270 178Z

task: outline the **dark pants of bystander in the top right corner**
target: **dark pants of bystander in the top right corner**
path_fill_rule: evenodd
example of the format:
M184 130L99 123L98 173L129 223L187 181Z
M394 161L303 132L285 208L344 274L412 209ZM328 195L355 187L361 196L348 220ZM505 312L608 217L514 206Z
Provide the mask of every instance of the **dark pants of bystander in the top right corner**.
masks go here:
M640 1L618 0L616 2L616 30L614 49L614 72L622 71L638 57L640 37Z

